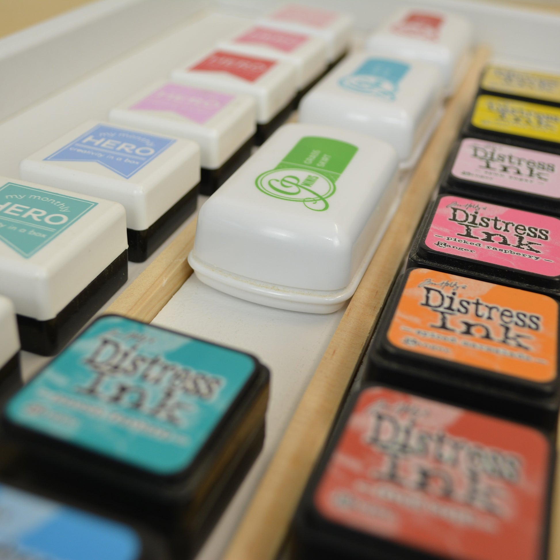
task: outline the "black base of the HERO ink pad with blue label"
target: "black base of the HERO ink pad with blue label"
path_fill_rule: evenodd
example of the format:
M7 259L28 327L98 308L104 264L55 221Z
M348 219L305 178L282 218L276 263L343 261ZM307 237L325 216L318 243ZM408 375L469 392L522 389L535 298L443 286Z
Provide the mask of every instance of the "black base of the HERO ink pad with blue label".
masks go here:
M143 263L169 237L186 218L197 209L200 184L194 186L165 214L162 214L146 230L127 228L128 260Z

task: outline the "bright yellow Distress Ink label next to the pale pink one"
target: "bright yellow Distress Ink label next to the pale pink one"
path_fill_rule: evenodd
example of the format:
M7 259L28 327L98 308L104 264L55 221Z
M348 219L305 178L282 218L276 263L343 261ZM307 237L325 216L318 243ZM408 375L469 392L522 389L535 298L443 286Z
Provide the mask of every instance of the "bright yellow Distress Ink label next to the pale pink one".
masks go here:
M560 109L479 95L471 119L477 128L560 143Z

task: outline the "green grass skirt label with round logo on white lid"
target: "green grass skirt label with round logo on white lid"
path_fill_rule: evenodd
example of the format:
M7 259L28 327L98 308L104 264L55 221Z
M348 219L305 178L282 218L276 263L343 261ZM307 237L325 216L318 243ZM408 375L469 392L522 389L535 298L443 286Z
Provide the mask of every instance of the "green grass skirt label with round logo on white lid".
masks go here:
M358 148L340 140L306 136L275 169L260 174L257 188L270 197L302 202L306 208L324 212L326 199L337 190L335 184Z

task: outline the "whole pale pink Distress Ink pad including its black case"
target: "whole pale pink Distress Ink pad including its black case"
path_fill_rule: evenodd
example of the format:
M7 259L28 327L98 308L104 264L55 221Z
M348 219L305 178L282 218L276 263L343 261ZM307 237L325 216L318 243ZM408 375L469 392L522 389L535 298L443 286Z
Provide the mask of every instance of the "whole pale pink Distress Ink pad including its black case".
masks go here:
M463 138L447 160L440 193L560 217L560 155Z

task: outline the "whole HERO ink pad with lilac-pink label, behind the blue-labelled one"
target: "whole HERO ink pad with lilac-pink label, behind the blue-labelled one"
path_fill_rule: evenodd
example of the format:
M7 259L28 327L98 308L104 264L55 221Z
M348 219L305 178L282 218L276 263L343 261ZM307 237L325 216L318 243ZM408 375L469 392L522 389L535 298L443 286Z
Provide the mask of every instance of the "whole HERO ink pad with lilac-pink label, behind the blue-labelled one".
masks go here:
M109 120L196 142L200 193L210 195L251 155L256 104L250 95L162 81L111 109Z

